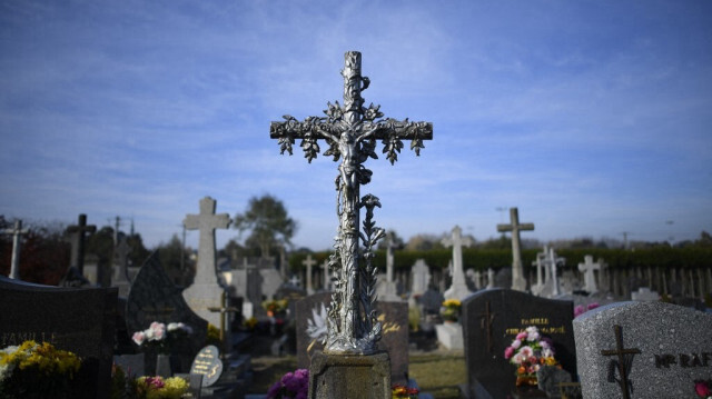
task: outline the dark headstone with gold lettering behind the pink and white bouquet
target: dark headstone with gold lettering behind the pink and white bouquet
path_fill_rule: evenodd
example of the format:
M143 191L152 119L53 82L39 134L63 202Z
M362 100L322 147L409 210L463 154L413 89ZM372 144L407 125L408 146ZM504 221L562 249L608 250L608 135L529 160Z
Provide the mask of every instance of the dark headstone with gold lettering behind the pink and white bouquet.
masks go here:
M572 331L573 302L492 289L475 292L463 303L463 337L469 398L506 398L515 389L515 368L504 350L526 327L536 326L554 343L555 358L576 375Z

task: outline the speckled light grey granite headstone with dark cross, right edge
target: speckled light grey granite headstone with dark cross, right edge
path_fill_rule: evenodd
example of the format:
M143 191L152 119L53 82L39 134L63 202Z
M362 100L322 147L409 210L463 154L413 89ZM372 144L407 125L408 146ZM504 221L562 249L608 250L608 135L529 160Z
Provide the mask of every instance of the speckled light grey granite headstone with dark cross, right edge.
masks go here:
M710 379L712 316L664 302L617 302L573 322L586 398L693 398Z

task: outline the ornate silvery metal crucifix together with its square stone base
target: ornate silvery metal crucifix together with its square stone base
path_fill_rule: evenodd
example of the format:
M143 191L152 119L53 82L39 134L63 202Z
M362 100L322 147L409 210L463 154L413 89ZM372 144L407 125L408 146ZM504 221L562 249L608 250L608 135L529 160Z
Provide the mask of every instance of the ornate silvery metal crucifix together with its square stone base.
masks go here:
M300 139L305 158L310 162L320 151L318 140L329 148L325 156L342 159L336 178L338 235L329 259L335 270L332 302L328 312L327 339L324 352L312 359L309 398L389 398L390 365L388 355L377 351L382 323L375 310L376 273L374 249L385 236L376 227L374 208L380 207L373 194L360 196L360 186L370 181L373 172L364 167L368 158L377 158L376 140L382 140L383 152L393 164L409 139L411 149L419 154L423 140L433 137L433 126L383 119L380 106L365 108L360 92L370 80L360 73L360 53L345 54L344 104L328 103L326 117L309 117L299 122L291 116L271 122L270 137L278 139L281 153L291 154L295 139ZM366 218L362 227L360 210ZM364 249L360 250L360 245ZM364 261L360 262L359 260ZM345 383L345 381L349 383Z

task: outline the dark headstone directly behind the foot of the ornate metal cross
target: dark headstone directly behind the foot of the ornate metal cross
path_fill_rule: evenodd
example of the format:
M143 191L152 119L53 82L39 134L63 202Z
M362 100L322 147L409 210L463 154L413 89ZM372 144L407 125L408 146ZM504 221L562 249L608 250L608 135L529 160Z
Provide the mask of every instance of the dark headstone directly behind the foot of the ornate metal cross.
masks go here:
M304 298L296 305L297 368L309 368L316 351L324 350L320 339L326 335L326 312L332 299L330 292L318 292ZM376 311L383 326L378 349L388 352L390 379L406 382L408 372L408 303L377 302Z

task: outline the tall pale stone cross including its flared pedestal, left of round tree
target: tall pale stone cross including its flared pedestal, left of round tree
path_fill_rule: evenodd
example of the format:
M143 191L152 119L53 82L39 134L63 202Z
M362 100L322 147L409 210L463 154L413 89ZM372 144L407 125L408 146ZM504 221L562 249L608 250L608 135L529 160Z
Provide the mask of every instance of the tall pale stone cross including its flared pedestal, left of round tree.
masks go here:
M200 200L200 213L187 215L184 226L187 230L199 230L198 265L192 285L182 292L188 306L212 326L220 323L220 317L208 308L219 307L222 287L218 283L215 258L215 230L227 229L230 217L215 213L216 201L210 197Z

